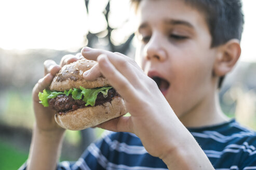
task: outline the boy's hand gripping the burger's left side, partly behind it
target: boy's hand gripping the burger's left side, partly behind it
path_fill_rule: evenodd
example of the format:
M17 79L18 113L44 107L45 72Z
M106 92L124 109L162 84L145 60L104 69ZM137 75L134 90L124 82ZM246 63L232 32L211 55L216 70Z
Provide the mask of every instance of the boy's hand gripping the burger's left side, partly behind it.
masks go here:
M50 107L44 107L41 103L39 103L38 93L49 88L53 77L59 72L61 67L76 60L78 60L77 56L65 55L61 59L60 65L57 65L53 60L46 60L44 62L45 76L35 84L32 91L35 120L38 130L47 132L64 132L64 129L62 129L62 127L55 122L54 117L56 111L52 110Z

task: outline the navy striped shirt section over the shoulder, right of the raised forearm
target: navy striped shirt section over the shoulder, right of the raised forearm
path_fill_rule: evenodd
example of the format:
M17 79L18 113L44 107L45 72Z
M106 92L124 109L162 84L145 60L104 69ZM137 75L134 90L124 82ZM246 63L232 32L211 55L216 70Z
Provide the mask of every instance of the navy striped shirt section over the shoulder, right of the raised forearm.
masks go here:
M215 168L244 168L256 161L256 133L235 120L192 130Z

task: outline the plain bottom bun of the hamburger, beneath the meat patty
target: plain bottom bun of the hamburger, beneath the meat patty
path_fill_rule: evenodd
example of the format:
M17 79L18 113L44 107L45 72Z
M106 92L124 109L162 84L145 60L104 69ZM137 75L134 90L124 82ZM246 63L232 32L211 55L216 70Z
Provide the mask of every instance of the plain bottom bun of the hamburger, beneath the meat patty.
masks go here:
M65 115L55 115L55 121L64 129L83 130L127 113L122 97L114 97L102 105L79 108Z

